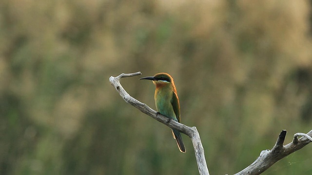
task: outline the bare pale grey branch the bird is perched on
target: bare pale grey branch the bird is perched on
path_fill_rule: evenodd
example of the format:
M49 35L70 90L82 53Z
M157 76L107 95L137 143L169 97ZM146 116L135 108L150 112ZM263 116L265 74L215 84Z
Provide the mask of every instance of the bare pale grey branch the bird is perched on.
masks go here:
M137 109L139 109L141 112L151 116L153 119L157 120L160 123L163 123L170 128L174 128L179 130L180 132L186 134L189 136L192 140L194 151L195 151L195 157L197 161L197 166L198 166L198 171L200 175L209 175L208 167L206 164L206 159L204 155L204 148L202 146L199 133L196 129L196 127L189 127L184 124L178 123L174 120L168 120L167 117L157 113L155 110L150 108L148 105L145 105L141 102L139 102L137 99L131 97L124 88L122 88L120 84L120 79L123 77L131 77L131 76L136 76L140 75L141 72L136 72L136 73L121 73L117 77L111 76L109 78L109 81L111 84L116 88L117 92L120 94L120 96L129 104L135 106Z

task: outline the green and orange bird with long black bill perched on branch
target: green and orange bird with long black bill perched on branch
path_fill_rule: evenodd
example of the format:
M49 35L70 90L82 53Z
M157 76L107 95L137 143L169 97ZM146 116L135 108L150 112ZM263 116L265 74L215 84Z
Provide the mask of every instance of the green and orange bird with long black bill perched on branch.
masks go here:
M180 104L174 79L168 73L157 73L154 76L140 78L140 80L153 81L156 86L154 99L157 111L170 120L180 123ZM172 134L180 152L185 153L186 149L180 132L172 129Z

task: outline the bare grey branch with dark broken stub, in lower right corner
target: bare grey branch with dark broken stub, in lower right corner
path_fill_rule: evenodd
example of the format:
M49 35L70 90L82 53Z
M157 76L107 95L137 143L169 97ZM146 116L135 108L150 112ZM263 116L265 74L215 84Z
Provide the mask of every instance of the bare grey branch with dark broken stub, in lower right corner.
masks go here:
M247 168L235 175L260 175L262 172L271 167L278 160L292 154L293 152L303 148L305 145L312 141L312 130L308 134L296 133L291 143L283 146L286 130L283 130L273 147L272 150L264 150L260 153L260 156L249 165ZM298 136L303 136L298 139Z

